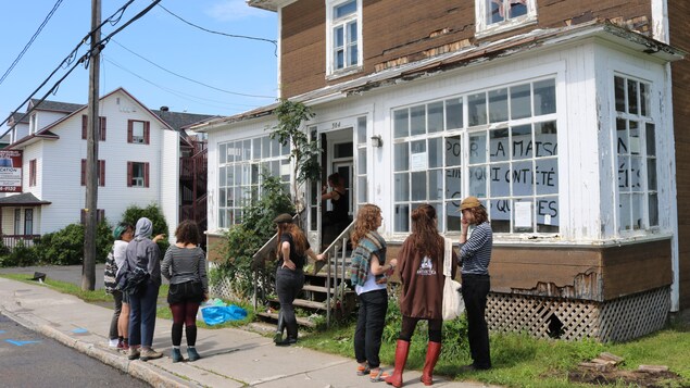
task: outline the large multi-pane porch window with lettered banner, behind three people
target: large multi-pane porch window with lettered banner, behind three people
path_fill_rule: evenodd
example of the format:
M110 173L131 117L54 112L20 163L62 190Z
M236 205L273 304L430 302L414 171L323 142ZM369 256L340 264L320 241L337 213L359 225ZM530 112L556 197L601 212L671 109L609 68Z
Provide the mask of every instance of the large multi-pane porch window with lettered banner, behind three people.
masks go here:
M557 233L555 113L554 79L393 111L393 230L422 203L460 230L460 201L476 196L497 233Z

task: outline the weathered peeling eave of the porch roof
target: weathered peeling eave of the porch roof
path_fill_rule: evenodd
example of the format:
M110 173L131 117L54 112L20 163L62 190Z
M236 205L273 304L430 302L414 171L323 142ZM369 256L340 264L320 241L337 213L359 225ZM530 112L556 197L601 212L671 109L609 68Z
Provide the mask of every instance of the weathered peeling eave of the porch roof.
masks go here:
M250 2L255 4L274 3L275 1L280 0L254 0ZM686 54L682 50L616 26L611 22L592 21L561 28L535 29L526 34L511 36L498 41L482 42L476 46L467 43L456 51L443 52L438 55L386 68L337 85L328 85L321 89L294 96L290 98L290 100L303 102L306 105L316 105L323 102L343 99L348 96L359 96L371 90L378 90L384 87L431 77L460 67L480 65L487 61L509 58L515 53L526 52L535 48L555 46L556 43L586 38L602 38L604 40L615 41L622 47L628 47L638 52L644 52L668 62L680 60ZM191 127L191 129L208 132L225 124L264 117L273 114L273 111L278 105L279 102L276 102L237 115L211 120L205 123L200 123Z

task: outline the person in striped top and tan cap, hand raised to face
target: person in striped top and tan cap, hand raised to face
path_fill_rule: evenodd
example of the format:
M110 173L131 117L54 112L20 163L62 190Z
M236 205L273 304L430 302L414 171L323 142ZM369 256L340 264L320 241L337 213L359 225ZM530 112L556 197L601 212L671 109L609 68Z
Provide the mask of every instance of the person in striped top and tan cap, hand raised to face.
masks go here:
M489 351L489 327L485 316L487 297L491 289L489 262L493 246L493 231L486 208L476 197L467 197L460 204L462 233L460 236L460 260L462 265L462 293L467 312L467 337L473 363L465 371L491 368ZM469 238L469 225L474 229Z

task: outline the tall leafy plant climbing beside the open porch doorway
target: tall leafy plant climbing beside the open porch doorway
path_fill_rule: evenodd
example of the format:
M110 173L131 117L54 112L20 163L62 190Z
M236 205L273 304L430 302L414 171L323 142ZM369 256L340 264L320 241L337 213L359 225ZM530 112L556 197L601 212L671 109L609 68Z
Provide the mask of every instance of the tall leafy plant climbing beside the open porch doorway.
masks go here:
M290 160L293 162L292 201L297 211L304 209L304 201L300 198L300 188L309 180L321 179L318 157L321 147L316 139L310 139L302 123L313 118L316 114L302 102L280 100L275 109L278 124L271 127L271 139L277 139L283 147L290 147Z

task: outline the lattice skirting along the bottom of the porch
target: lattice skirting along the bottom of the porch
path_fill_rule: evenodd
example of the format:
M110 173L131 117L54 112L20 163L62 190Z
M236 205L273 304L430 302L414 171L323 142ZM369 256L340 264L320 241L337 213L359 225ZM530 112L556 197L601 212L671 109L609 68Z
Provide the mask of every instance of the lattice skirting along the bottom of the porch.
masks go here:
M627 341L664 327L668 287L606 302L490 293L487 322L492 331L528 333L537 338Z

